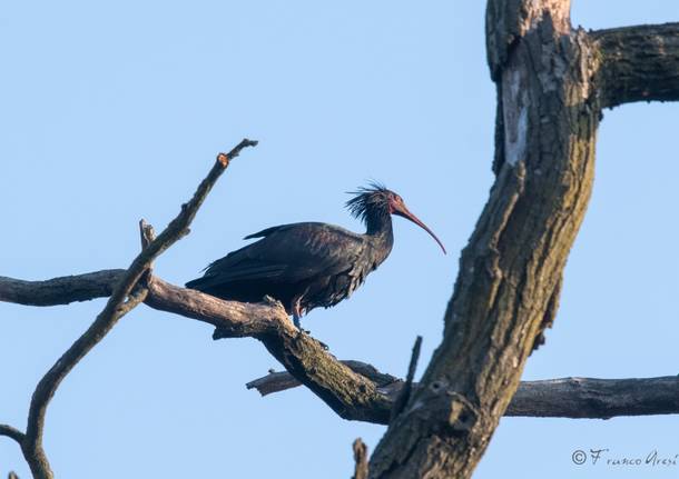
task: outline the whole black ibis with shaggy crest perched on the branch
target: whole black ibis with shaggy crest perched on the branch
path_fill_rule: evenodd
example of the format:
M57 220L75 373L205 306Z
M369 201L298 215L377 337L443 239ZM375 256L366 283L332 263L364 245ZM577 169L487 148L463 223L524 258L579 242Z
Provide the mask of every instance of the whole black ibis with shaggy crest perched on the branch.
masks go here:
M373 183L354 194L346 207L365 223L364 234L321 222L267 228L245 237L260 240L216 260L186 287L245 302L273 297L299 328L303 313L347 298L386 259L394 243L392 214L423 228L445 253L439 238L395 192Z

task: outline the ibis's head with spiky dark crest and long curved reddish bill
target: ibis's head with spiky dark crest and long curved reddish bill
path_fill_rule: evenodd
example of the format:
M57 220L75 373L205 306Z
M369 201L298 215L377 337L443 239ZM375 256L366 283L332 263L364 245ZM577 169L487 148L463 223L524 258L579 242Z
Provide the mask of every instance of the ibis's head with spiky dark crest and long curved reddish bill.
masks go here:
M372 182L367 187L352 191L351 194L355 196L346 202L346 207L352 216L368 224L368 230L371 223L386 221L390 214L396 214L414 222L430 233L445 253L445 248L436 234L407 209L403 198L387 190L384 184Z

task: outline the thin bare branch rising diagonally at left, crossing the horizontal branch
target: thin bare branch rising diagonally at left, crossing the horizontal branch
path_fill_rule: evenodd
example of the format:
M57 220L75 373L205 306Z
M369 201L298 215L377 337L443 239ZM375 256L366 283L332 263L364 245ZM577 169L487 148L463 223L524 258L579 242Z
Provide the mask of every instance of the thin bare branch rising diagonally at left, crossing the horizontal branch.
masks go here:
M38 382L29 407L26 437L21 441L21 450L37 479L51 479L53 477L49 461L42 448L42 436L45 429L45 415L49 401L55 391L71 371L71 369L111 330L116 322L128 311L142 302L147 296L147 289L132 290L137 287L139 279L150 268L154 259L161 255L177 240L188 233L188 226L196 216L198 209L205 201L208 192L228 167L229 161L237 157L240 150L257 144L255 141L243 140L229 153L219 153L217 161L207 177L200 182L188 203L181 206L179 214L158 236L152 238L152 230L140 223L142 245L146 248L135 258L130 267L116 282L104 310L97 316L95 322L78 338L73 345L59 358L50 370ZM99 279L99 278L98 278ZM50 285L53 287L53 283ZM88 292L101 292L101 289ZM4 299L7 296L2 295ZM78 297L76 297L78 298ZM81 297L80 297L81 298Z

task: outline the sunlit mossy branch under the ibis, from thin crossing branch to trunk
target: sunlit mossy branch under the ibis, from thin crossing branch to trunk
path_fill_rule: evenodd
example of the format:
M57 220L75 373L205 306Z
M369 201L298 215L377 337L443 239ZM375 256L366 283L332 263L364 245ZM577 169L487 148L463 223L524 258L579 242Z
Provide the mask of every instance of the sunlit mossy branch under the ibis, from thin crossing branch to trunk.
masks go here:
M224 301L151 277L146 303L215 326L215 339L253 337L260 340L297 381L345 419L370 422L388 419L391 405L378 386L337 361L324 345L301 333L277 301Z

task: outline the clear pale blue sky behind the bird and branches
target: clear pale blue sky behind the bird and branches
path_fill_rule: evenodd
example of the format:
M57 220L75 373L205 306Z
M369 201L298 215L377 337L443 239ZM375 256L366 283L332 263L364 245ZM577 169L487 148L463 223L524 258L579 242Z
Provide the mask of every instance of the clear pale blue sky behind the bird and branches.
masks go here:
M344 192L374 178L450 253L396 219L388 260L350 300L304 323L338 358L398 376L422 335L426 362L493 180L484 3L4 4L0 275L125 267L139 218L163 228L215 154L249 137L259 147L233 164L156 272L184 283L272 224L357 230ZM573 19L677 21L679 4L575 0ZM679 372L678 117L671 103L606 112L561 309L524 379ZM0 422L24 427L36 382L102 305L0 303ZM259 398L245 382L281 367L255 340L210 335L146 307L124 318L51 403L46 448L58 477L350 477L351 442L362 437L372 449L384 427L344 421L302 388ZM589 448L673 457L678 428L677 417L505 419L476 477L679 477L679 466L571 462ZM0 438L0 477L10 469L29 477L17 445Z

